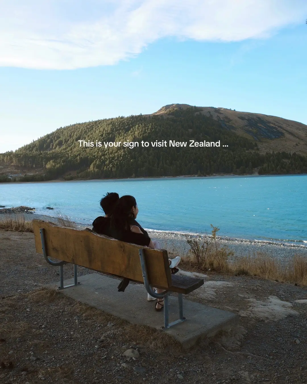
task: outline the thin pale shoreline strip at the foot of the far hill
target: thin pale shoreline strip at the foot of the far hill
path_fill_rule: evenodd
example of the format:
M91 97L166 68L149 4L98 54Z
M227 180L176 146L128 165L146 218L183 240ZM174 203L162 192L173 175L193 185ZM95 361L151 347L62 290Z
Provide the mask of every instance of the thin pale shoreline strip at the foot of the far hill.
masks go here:
M123 178L113 178L113 179L76 179L76 180L46 180L46 181L10 181L3 182L2 184L39 184L39 183L60 183L60 182L79 182L79 181L90 181L90 182L99 182L99 181L150 181L150 180L185 180L185 179L233 179L233 178L244 178L244 177L282 177L282 176L307 176L306 173L299 174L282 174L282 175L235 175L235 174L225 174L225 175L210 175L210 176L196 176L196 175L187 175L187 176L159 176L159 177L123 177Z

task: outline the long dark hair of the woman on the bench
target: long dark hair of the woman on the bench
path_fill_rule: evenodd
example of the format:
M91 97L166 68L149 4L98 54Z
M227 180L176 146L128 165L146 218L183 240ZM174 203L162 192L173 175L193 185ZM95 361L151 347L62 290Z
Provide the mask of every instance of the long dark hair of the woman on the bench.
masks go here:
M130 230L130 220L134 218L131 211L137 202L133 196L124 195L116 203L111 215L111 227L118 231Z

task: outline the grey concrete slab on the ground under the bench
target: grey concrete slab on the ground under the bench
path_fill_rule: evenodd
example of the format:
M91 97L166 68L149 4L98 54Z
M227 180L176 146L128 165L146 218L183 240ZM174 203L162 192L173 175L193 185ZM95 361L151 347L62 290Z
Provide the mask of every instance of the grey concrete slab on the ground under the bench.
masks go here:
M130 323L163 329L163 311L155 311L155 301L147 301L144 285L130 283L125 292L118 292L119 280L97 273L79 276L78 281L78 286L71 286L60 292ZM73 278L64 281L64 286L69 284L73 284ZM59 283L46 285L48 288L58 286ZM234 313L185 299L183 316L187 321L170 329L163 329L179 341L183 348L190 348L198 339L214 336L222 329L230 329L239 319ZM175 321L178 317L178 299L176 296L169 296L169 321Z

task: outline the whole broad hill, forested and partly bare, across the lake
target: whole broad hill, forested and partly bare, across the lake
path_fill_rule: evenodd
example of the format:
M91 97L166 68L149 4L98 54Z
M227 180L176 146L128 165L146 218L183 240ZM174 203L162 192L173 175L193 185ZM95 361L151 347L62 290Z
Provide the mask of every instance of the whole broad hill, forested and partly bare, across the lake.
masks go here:
M149 115L61 127L0 154L0 179L307 173L306 154L307 126L299 122L170 104Z

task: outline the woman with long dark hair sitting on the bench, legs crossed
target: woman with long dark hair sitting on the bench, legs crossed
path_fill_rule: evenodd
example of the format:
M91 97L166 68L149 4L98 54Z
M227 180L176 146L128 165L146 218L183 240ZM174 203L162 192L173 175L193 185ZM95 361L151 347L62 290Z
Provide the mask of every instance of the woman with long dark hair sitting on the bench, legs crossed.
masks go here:
M140 224L135 220L137 214L139 213L139 208L137 207L137 202L133 196L124 195L120 197L117 201L114 210L111 215L110 220L110 236L116 238L117 240L125 241L125 242L134 242L133 234L143 235L144 237L149 239L149 243L147 247L150 248L160 248L158 242L153 242L148 233L144 228L140 226ZM135 243L135 242L134 242ZM143 245L143 244L139 244ZM178 268L176 266L180 262L180 257L169 260L170 268L172 273L178 272ZM157 293L162 293L163 290L155 288ZM148 294L147 300L155 300L152 296ZM162 311L163 309L163 300L157 299L155 309L156 311Z

